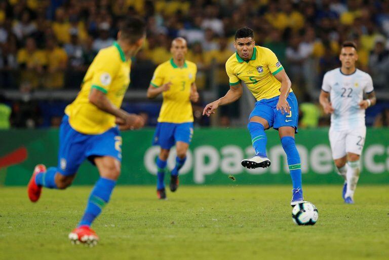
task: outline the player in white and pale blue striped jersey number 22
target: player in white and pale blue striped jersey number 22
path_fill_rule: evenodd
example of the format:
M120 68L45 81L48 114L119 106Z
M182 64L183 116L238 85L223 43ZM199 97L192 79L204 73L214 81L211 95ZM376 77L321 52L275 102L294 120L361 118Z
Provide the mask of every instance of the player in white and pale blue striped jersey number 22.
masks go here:
M324 75L319 99L324 112L331 114L329 139L337 173L344 178L342 197L345 203L354 204L366 137L365 109L376 98L370 75L356 68L355 43L342 44L339 60L341 67Z

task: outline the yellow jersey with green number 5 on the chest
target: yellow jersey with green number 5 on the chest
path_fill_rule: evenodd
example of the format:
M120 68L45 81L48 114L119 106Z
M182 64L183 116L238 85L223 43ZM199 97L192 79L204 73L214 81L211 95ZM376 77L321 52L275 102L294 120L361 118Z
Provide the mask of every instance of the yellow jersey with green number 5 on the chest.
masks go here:
M229 85L238 85L243 81L257 100L281 94L281 82L274 76L283 69L276 54L260 46L254 47L253 56L248 61L235 53L225 63Z

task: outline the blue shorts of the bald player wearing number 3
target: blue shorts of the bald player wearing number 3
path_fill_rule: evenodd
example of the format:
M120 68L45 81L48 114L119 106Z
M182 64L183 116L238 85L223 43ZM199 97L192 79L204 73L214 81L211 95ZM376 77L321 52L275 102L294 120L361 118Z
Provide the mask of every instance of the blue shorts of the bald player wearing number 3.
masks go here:
M193 122L165 123L159 122L155 129L153 145L160 145L163 149L170 149L177 141L190 143L193 135Z

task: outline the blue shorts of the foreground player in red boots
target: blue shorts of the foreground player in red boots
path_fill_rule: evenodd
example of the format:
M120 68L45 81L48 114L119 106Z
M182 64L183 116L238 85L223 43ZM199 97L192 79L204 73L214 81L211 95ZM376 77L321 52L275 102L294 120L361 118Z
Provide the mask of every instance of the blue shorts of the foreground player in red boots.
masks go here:
M121 145L118 127L102 134L82 134L69 125L69 117L65 115L59 129L58 170L63 175L73 175L85 159L94 164L97 156L111 156L122 161Z

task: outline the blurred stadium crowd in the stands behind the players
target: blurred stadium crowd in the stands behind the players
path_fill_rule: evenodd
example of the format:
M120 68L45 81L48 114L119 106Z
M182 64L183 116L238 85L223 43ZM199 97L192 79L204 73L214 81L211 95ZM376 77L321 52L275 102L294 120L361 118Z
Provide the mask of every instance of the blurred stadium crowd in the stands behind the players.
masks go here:
M148 87L154 68L171 56L171 39L182 36L187 59L199 68L199 90L214 84L225 93L224 64L242 26L254 29L257 45L276 53L300 102L309 101L324 73L339 66L345 40L358 44L358 67L370 73L375 89L384 90L389 80L389 1L3 0L1 88L79 89L96 53L112 45L118 25L130 15L147 22L147 42L133 60L132 89Z

